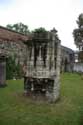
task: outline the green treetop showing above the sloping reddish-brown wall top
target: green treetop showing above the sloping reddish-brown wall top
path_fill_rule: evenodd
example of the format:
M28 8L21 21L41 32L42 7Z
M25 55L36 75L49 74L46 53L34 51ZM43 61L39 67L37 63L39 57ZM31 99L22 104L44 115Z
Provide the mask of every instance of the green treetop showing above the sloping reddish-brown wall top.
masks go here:
M27 35L29 33L28 26L23 23L16 23L13 25L8 24L6 27L10 30L14 30L16 32L23 33L25 35Z

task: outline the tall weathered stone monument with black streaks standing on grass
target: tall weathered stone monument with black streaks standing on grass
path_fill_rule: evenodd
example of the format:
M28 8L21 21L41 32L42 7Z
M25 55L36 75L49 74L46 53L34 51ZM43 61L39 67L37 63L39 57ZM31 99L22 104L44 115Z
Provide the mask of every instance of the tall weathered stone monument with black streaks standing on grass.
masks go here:
M56 30L33 33L27 45L26 94L56 101L60 95L60 40Z

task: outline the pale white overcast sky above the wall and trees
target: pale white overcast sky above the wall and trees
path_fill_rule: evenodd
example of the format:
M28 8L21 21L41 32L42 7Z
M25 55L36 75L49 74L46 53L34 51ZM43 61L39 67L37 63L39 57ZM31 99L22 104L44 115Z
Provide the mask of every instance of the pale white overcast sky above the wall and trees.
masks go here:
M58 31L61 44L76 50L72 32L83 12L83 0L0 0L0 25L22 22L30 30Z

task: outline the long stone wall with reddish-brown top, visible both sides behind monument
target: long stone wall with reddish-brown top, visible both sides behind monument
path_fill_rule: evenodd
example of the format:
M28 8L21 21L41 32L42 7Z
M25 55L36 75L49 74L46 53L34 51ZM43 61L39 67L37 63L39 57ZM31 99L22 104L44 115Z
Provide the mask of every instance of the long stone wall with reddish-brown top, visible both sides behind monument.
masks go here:
M0 26L0 53L12 57L15 56L16 62L19 60L22 64L27 58L27 47L23 42L26 43L31 38L30 34L26 36ZM71 60L70 55L73 57L73 60ZM61 71L71 71L73 62L74 52L67 47L61 46Z

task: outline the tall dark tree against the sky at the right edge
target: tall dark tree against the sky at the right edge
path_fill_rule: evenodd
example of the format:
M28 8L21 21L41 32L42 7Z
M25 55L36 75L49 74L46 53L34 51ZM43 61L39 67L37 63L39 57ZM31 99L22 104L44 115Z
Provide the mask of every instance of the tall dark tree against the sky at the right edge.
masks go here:
M73 37L77 47L83 46L83 14L80 14L76 21L78 28L73 30Z

